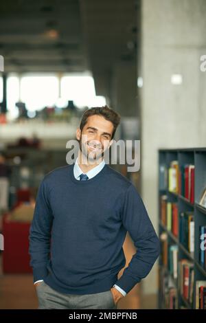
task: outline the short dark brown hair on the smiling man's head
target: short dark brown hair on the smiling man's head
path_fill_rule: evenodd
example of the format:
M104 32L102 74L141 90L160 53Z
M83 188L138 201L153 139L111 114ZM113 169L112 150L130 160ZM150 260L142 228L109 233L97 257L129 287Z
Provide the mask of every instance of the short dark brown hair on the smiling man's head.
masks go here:
M104 107L93 107L91 109L87 109L86 111L84 111L84 113L82 115L82 120L80 122L80 130L81 131L84 128L85 124L87 124L87 119L89 117L91 117L91 115L101 115L102 117L104 117L104 119L111 121L113 123L114 129L113 129L113 133L111 136L111 140L112 140L115 135L115 131L117 129L117 126L120 123L121 117L120 117L119 113L115 112L113 109L109 108L107 105L105 105Z

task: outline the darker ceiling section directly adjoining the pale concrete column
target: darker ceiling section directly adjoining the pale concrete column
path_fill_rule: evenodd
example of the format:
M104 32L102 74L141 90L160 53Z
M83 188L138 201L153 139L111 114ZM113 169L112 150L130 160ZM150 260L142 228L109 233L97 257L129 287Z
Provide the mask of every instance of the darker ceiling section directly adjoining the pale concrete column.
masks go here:
M81 0L84 43L96 92L108 95L119 60L136 60L139 0Z

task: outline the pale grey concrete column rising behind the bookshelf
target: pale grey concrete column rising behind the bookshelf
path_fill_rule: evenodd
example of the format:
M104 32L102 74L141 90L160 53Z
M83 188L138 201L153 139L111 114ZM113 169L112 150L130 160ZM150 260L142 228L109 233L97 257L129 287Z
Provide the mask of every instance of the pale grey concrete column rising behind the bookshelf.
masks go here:
M205 0L141 3L141 192L157 229L158 148L206 146ZM172 84L174 74L182 83ZM144 280L157 293L157 267Z

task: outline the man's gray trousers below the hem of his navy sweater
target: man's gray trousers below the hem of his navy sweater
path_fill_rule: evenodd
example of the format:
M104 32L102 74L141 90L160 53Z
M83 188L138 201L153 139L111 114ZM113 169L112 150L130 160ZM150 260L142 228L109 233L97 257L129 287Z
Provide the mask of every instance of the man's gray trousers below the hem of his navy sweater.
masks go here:
M65 294L44 281L36 286L38 309L117 309L111 290L93 294Z

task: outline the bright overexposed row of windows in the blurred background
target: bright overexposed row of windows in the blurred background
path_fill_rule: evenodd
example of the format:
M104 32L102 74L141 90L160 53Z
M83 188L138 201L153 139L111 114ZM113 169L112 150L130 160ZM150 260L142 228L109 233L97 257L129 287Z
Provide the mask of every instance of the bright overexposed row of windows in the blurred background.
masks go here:
M92 76L70 74L59 80L56 74L10 74L7 79L7 103L11 118L16 118L19 109L16 102L25 103L26 109L41 110L44 107L66 107L73 100L77 107L102 107L106 104L103 96L95 96ZM0 102L3 100L3 80L0 76Z

